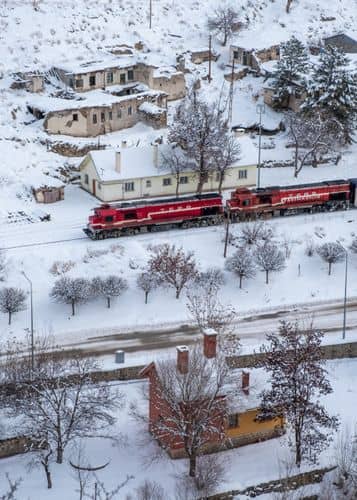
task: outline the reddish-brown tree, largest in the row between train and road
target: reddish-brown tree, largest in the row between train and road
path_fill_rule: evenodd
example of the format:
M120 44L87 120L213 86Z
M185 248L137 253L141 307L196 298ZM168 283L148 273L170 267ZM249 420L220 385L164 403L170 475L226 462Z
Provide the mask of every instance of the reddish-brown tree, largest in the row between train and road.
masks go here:
M185 253L183 248L164 243L151 248L152 255L148 262L149 272L158 282L175 288L176 298L187 284L197 275L193 252Z

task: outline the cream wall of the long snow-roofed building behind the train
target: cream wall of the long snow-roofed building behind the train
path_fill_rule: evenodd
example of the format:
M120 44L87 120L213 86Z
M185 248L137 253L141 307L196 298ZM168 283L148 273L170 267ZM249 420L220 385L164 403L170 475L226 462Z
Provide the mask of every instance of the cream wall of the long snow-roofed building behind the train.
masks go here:
M246 171L247 178L240 179L239 172ZM160 173L158 171L158 173ZM85 182L85 175L88 175L88 183ZM182 172L181 177L188 177L187 184L180 184L179 194L192 194L197 191L197 177L193 172ZM173 196L176 193L176 178L174 175L162 174L157 176L147 176L142 178L125 179L115 182L102 182L98 178L97 172L91 160L84 160L80 167L81 186L86 191L93 194L93 180L96 183L96 196L101 201L133 200L137 198L150 198L157 196ZM164 179L171 179L171 185L164 185ZM149 181L149 182L148 182ZM134 191L125 191L125 183L134 182ZM148 184L151 183L150 186ZM223 181L223 189L233 189L238 186L254 186L256 183L256 166L233 167L228 169ZM218 181L213 173L208 182L203 186L203 191L217 191Z

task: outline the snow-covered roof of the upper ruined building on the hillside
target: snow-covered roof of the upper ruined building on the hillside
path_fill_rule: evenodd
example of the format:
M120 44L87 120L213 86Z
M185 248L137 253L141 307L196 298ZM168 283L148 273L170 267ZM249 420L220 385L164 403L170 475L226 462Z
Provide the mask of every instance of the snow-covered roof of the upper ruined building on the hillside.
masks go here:
M134 64L136 64L136 58L132 55L116 57L111 57L108 55L106 57L101 56L101 58L98 58L96 60L85 62L75 59L73 61L59 63L58 65L56 65L56 67L67 72L68 74L81 75L94 71L104 71L106 69L112 68L130 68Z

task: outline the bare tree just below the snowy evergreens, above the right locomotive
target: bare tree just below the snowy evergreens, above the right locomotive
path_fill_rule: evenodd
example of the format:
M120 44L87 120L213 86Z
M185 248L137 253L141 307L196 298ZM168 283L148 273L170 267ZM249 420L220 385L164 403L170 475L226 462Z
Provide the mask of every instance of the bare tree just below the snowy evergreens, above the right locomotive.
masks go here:
M332 151L342 137L342 129L333 119L288 114L288 132L294 148L294 176L297 177L308 161L317 165L317 156Z

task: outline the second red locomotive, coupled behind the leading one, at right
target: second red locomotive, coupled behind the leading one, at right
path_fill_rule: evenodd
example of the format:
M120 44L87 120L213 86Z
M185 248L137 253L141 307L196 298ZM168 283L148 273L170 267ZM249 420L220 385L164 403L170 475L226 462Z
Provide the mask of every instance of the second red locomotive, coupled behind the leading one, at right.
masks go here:
M343 210L349 206L351 186L350 181L336 180L263 189L238 188L227 201L226 211L235 221L301 212Z

